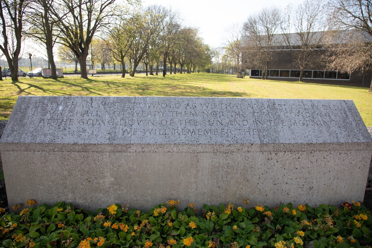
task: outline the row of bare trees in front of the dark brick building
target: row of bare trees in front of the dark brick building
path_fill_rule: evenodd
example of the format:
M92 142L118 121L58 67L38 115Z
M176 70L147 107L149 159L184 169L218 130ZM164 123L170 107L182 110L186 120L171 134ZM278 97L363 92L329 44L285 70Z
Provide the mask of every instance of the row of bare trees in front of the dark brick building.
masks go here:
M284 9L266 7L228 30L214 62L219 65L222 55L237 70L262 68L265 79L270 63L286 49L301 70L299 81L304 70L319 65L364 72L372 68L371 13L370 0L304 0Z

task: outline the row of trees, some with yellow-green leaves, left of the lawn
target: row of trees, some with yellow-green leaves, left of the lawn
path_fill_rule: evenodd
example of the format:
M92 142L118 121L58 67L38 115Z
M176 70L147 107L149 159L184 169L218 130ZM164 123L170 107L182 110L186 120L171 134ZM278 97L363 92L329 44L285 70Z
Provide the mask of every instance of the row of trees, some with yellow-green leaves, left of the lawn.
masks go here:
M87 78L88 55L103 64L113 58L122 68L128 60L132 76L140 62L150 65L152 74L152 65L158 65L161 58L164 65L175 68L178 64L188 71L211 63L210 48L198 36L198 29L183 27L177 12L162 6L142 10L138 0L119 1L1 0L0 49L12 80L17 80L24 37L44 45L52 78L56 78L56 45L60 56L80 64L83 78Z

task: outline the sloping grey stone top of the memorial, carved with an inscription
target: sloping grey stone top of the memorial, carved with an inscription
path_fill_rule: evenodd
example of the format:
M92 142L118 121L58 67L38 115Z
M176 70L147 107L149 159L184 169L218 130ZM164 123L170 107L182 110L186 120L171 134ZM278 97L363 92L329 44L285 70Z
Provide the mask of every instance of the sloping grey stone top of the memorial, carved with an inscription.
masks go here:
M20 96L1 143L372 142L351 100Z

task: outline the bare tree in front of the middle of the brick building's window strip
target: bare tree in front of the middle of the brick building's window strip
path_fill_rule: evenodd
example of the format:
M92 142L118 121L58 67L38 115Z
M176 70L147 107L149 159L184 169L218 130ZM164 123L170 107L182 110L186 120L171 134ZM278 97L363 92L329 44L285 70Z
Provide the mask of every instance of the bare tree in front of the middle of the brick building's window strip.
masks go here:
M299 81L302 81L304 69L320 62L316 54L324 43L325 15L323 0L304 0L294 9L288 5L281 29L286 48L291 51L295 64L300 68ZM295 33L291 33L294 30Z

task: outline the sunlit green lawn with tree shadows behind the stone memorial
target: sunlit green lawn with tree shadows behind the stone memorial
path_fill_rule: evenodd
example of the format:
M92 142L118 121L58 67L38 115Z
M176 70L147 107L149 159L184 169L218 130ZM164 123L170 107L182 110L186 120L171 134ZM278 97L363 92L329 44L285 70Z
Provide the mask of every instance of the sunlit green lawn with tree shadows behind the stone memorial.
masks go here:
M229 74L168 74L135 77L23 78L0 81L0 119L9 119L18 96L203 96L353 100L366 126L372 126L369 88L236 78Z

